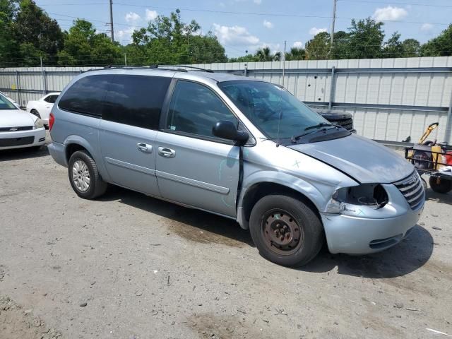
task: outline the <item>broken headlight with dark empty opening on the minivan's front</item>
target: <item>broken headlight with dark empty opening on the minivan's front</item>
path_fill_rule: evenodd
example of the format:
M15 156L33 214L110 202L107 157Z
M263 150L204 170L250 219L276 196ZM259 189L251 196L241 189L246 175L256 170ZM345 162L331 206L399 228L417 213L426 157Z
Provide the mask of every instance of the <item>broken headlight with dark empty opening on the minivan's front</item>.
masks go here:
M331 196L326 213L347 214L355 212L354 206L379 209L388 203L388 194L380 184L361 184L359 186L337 189Z

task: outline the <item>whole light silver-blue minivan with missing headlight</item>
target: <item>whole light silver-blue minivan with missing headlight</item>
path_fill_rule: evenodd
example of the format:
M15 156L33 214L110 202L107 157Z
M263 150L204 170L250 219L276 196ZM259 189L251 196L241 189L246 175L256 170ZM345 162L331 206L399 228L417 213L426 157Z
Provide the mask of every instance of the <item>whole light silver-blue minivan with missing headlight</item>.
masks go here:
M403 157L334 126L280 85L211 71L123 67L69 83L49 151L81 198L107 184L237 220L259 252L301 266L398 244L424 207Z

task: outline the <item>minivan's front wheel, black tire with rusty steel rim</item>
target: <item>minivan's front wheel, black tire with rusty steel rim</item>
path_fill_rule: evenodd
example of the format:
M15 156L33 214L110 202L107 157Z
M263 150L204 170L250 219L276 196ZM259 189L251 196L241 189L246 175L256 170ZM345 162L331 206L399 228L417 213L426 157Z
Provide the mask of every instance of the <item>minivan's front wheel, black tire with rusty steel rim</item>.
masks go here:
M251 210L249 221L261 256L279 265L303 266L323 245L321 220L311 207L291 196L264 196Z

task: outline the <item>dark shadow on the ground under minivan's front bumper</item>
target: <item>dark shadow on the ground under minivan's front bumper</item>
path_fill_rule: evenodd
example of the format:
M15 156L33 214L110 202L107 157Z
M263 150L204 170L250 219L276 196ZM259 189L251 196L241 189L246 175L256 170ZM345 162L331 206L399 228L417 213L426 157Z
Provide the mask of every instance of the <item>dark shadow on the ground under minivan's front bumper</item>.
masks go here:
M338 266L338 273L363 278L395 278L424 266L433 253L432 235L416 225L410 235L396 246L367 256L330 254L326 249L300 270L328 272Z

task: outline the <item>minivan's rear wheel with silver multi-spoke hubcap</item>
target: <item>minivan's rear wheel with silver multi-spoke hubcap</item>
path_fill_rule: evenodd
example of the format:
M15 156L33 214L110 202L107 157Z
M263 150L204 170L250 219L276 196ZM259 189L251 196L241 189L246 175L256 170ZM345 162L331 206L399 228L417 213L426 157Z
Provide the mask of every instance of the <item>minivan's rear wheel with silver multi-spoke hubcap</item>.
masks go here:
M94 199L107 191L108 184L102 180L93 157L85 150L71 155L68 174L72 189L81 198Z

